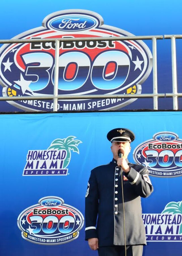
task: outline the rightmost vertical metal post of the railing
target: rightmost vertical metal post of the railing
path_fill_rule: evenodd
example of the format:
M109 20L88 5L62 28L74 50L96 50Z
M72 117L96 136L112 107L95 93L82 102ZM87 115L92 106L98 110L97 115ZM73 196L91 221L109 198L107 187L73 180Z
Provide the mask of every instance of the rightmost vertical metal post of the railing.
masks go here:
M172 86L173 93L177 94L177 69L176 69L176 41L175 36L171 38L171 51L172 51ZM177 96L173 96L173 109L178 110Z

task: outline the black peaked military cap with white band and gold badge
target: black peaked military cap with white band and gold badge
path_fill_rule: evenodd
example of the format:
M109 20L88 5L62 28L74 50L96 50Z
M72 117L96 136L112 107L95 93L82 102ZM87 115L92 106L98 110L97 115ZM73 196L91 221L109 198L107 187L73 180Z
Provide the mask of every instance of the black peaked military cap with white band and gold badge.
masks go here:
M132 142L135 139L135 135L132 131L126 128L115 128L108 132L107 139L111 142Z

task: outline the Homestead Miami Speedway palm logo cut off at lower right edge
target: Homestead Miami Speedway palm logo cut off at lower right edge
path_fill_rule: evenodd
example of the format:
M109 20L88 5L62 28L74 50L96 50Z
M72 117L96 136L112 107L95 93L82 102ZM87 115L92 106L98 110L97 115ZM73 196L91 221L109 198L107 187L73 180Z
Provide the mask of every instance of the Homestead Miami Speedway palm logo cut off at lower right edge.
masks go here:
M182 241L182 201L170 202L162 213L146 213L142 218L147 241Z

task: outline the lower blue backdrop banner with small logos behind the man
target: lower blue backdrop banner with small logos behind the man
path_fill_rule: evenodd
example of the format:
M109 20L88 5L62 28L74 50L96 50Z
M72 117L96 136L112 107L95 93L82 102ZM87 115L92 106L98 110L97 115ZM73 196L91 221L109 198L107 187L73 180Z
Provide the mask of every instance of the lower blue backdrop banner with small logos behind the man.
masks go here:
M97 255L84 241L90 171L112 160L106 135L132 130L129 161L148 167L142 199L145 256L179 256L182 241L182 113L0 115L1 255ZM132 154L133 153L133 154Z

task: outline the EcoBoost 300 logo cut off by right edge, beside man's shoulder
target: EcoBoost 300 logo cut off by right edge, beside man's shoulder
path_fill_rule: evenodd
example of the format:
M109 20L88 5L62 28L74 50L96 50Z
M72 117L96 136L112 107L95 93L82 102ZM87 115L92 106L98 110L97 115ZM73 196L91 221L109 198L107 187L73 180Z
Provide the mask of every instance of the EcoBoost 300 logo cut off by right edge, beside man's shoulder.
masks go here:
M182 140L173 132L159 132L153 139L144 141L133 152L136 163L149 169L149 174L158 177L182 175Z

